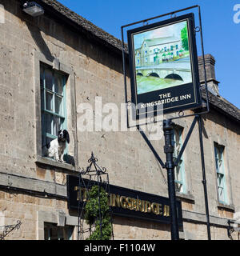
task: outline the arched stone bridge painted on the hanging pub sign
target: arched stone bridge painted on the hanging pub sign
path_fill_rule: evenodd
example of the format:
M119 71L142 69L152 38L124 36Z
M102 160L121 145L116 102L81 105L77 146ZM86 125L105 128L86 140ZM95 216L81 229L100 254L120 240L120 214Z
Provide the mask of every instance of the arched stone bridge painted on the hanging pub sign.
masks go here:
M191 79L190 62L165 62L155 66L137 66L137 74L144 77L171 78L187 82Z

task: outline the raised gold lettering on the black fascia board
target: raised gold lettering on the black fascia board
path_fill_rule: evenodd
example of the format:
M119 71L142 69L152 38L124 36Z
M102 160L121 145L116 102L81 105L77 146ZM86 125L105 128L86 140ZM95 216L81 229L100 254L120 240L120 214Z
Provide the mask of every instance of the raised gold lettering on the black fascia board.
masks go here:
M77 200L85 202L87 200L87 192L85 188L74 186L77 191ZM119 194L110 194L108 205L113 207L122 207L123 209L141 211L142 213L154 213L164 217L170 216L170 206L162 205L157 202L149 202L146 200L120 196Z

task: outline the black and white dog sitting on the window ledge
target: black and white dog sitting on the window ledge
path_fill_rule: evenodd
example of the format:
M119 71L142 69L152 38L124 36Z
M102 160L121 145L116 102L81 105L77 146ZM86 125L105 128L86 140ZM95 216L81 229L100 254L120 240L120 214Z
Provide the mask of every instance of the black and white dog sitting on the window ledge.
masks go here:
M54 158L59 162L65 162L63 160L63 153L66 149L66 142L70 143L68 131L59 130L58 138L55 138L43 148L43 155L49 158Z

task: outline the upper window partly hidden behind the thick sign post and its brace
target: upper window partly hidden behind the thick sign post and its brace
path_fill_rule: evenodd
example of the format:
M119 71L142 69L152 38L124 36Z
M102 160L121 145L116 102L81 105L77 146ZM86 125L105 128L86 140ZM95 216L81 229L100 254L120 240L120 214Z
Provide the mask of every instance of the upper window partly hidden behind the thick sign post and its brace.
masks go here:
M174 146L174 161L178 158L178 154L182 148L182 131L183 128L180 126L174 127L174 134L172 136L172 145ZM175 167L175 190L180 193L186 193L185 184L185 169L183 156L178 162L178 166Z

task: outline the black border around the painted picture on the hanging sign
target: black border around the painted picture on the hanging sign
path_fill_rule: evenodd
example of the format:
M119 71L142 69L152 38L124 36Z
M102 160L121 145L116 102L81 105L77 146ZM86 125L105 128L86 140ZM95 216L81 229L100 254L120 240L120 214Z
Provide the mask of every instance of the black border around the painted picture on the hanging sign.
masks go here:
M143 32L144 30L150 30L154 29L154 27L157 26L167 26L170 23L174 22L181 22L187 20L189 24L189 39L190 39L190 58L191 58L191 65L192 65L192 75L193 75L193 82L192 84L194 88L194 97L195 101L194 103L191 103L187 106L174 106L171 108L163 109L163 114L170 114L174 112L179 112L181 110L190 110L190 109L196 109L202 107L202 97L200 94L200 80L199 80L199 71L198 71L198 53L197 53L197 45L196 45L196 38L195 38L195 22L194 22L194 14L185 14L176 18L170 18L167 20L164 20L162 22L156 22L147 26L141 26L138 28L135 28L133 30L127 31L127 38L128 38L128 49L129 49L129 63L130 63L130 87L131 87L131 102L134 103L134 106L137 106L137 85L136 85L136 79L135 79L135 70L134 70L134 46L133 46L133 34ZM181 85L180 85L181 86ZM182 86L186 86L186 84L183 84ZM177 86L178 87L178 86ZM160 92L161 90L156 90L155 92ZM152 92L154 94L154 91ZM135 110L135 108L134 108ZM146 111L142 112L141 114L136 111L136 119L140 118L146 118ZM154 107L153 114L157 114L156 107ZM133 119L135 120L134 116Z

